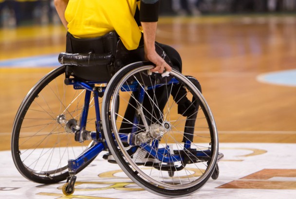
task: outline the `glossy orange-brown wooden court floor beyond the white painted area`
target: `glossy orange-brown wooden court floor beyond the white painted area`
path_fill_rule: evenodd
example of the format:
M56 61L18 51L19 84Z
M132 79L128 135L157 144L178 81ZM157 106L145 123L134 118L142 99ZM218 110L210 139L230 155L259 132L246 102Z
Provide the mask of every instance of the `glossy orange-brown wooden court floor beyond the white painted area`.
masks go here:
M0 61L58 54L62 26L0 30ZM296 16L161 18L157 40L175 47L200 80L221 142L296 143L296 87L257 76L296 69ZM0 150L9 150L19 104L53 67L0 66Z

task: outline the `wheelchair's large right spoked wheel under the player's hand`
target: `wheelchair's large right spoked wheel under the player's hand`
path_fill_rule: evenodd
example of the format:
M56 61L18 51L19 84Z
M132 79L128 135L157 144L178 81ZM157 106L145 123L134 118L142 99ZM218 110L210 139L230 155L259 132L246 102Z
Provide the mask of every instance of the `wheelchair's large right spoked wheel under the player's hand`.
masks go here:
M160 196L186 196L214 172L215 121L196 79L175 70L162 78L151 68L132 63L111 79L102 102L104 135L116 162L139 186Z

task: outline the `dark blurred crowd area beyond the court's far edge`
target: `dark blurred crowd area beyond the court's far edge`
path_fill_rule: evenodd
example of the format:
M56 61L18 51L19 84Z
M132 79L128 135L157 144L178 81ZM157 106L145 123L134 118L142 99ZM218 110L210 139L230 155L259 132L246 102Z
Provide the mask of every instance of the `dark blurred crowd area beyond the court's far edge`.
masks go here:
M293 13L296 0L161 0L162 16ZM54 0L0 0L0 26L59 24Z

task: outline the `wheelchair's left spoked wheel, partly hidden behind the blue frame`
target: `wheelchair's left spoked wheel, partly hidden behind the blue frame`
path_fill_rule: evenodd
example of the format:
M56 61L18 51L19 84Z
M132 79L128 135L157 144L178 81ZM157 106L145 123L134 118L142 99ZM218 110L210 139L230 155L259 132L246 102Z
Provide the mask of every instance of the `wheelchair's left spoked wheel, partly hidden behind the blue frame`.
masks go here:
M22 101L13 124L14 163L25 178L38 183L66 179L68 159L75 159L94 144L76 142L74 133L65 129L66 120L79 121L85 90L74 90L64 80L65 66L61 66L37 82ZM92 124L87 125L90 128L94 126L92 106L91 100L87 121Z

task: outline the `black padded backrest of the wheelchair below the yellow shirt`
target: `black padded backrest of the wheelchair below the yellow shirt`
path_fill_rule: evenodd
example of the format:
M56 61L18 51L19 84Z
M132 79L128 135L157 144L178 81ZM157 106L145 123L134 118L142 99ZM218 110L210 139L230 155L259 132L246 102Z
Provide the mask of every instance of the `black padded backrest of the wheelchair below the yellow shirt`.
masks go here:
M114 31L91 39L78 39L67 33L66 52L68 55L63 55L63 57L74 60L70 59L69 62L68 59L66 75L80 80L109 81L115 72L113 63L118 40L118 35ZM101 60L104 57L106 61ZM66 60L61 60L61 62L67 64Z

